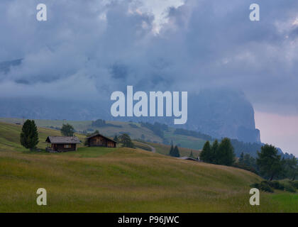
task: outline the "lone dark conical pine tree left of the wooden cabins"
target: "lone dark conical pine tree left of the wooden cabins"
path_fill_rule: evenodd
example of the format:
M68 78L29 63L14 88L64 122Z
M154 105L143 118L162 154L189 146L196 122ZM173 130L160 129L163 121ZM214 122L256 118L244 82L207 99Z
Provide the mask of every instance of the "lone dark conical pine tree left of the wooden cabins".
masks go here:
M33 150L38 145L38 130L35 121L27 120L23 124L20 142L23 147Z

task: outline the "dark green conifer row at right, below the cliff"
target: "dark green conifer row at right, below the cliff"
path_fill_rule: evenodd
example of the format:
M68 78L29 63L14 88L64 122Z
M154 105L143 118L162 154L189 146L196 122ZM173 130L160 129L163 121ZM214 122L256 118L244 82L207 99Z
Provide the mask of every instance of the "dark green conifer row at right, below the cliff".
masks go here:
M236 159L231 140L223 138L221 143L214 140L214 143L206 141L200 160L216 165L227 165L240 167L250 170L265 179L296 179L298 175L298 163L296 157L285 158L279 154L277 148L273 145L262 145L257 157L241 153L240 158Z

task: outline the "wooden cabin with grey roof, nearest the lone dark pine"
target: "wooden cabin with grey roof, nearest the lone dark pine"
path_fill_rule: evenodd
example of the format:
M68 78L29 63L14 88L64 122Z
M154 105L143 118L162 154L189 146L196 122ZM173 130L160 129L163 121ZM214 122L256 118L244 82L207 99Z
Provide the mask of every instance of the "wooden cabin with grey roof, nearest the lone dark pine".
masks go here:
M45 150L49 152L77 150L77 144L81 143L76 136L48 136L45 142L48 142Z

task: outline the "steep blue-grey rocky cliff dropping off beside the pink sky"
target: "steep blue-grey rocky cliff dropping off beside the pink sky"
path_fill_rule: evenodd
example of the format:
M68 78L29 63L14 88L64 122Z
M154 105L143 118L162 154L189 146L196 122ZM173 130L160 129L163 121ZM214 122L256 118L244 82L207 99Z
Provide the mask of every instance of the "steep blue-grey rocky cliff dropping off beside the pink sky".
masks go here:
M260 142L255 128L253 106L242 92L228 89L203 91L189 97L189 117L185 127L215 138L229 137Z

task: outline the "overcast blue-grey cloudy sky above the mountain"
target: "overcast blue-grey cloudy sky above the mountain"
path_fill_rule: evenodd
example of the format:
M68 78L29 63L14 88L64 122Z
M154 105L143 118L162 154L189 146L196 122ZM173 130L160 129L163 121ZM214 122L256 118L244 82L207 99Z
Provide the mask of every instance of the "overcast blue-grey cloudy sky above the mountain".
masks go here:
M0 1L0 62L23 58L0 75L1 96L72 99L76 92L84 99L127 84L152 91L231 87L259 114L261 138L275 125L264 114L297 120L297 0L44 0L46 22L35 18L38 3ZM252 3L260 4L261 21L249 20ZM275 131L265 142L287 141L285 151L298 155L286 140L287 131L298 135L294 123Z

